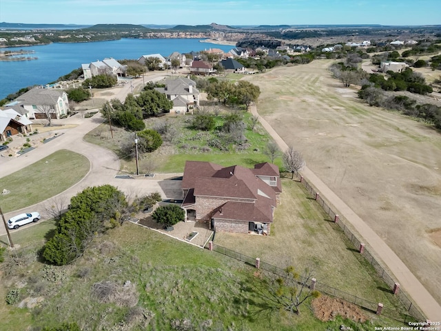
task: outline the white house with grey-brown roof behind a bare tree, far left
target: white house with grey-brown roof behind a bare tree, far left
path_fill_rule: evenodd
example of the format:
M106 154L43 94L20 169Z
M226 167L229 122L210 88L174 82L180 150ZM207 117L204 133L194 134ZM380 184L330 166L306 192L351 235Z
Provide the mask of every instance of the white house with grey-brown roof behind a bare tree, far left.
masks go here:
M15 100L17 106L28 111L30 119L46 119L47 112L50 112L52 119L59 119L69 110L68 94L61 90L32 88Z

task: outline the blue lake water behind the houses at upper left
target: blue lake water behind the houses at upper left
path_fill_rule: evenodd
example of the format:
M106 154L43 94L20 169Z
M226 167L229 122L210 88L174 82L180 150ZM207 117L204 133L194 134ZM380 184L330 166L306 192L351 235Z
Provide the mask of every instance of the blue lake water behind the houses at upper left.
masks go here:
M114 59L139 59L143 54L159 53L168 57L172 52L187 53L192 51L220 48L228 52L233 46L201 43L200 39L120 39L115 41L97 41L92 43L51 43L50 45L21 48L0 48L4 50L34 50L30 61L0 61L0 99L21 88L32 85L45 85L56 81L81 63ZM27 55L26 55L27 56Z

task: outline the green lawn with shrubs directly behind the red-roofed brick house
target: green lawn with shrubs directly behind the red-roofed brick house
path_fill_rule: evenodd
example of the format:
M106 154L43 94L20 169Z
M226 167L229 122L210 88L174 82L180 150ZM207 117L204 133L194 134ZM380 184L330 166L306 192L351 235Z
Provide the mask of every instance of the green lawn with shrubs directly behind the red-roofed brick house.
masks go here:
M165 116L161 118L147 120L147 127L154 128L159 121L167 121L173 128L176 129L176 141L164 143L163 146L153 152L141 155L139 159L140 172L147 172L144 170L145 160L153 158L156 163L154 172L156 173L171 173L183 172L185 161L210 161L220 165L243 165L252 168L254 164L261 162L268 162L269 157L263 154L267 143L270 141L269 134L263 130L260 123L257 123L252 130L252 115L249 112L240 112L243 115L243 121L246 129L244 135L247 139L247 147L243 150L236 150L233 144L227 146L227 150L221 151L217 148L210 147L211 152L203 152L203 148L208 146L208 141L216 137L214 131L205 132L198 131L191 128L189 121L191 115L186 116ZM215 117L216 127L222 126L223 117ZM133 140L133 135L130 132L125 132L121 128L113 128L114 138L111 137L109 126L101 124L91 132L85 135L85 141L95 143L103 148L108 148L115 152L121 158L122 172L135 172L136 163L134 159L127 159L121 152L121 145L130 139ZM275 164L282 166L282 161L279 154Z

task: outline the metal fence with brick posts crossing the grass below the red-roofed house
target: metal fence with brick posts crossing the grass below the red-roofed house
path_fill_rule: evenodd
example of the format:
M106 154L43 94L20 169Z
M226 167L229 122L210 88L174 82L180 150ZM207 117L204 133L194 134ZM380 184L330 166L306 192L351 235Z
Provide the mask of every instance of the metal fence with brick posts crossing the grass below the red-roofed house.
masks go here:
M215 252L218 252L220 254L224 254L227 257L232 257L233 259L236 259L238 261L242 261L248 265L252 265L256 267L256 259L252 257L248 257L245 254L235 252L234 250L229 250L228 248L225 248L220 245L216 245L215 243L212 243L212 248ZM280 277L285 276L285 270L282 268L276 267L276 265L272 265L269 263L266 263L264 261L260 261L259 268L262 270L265 270L267 272L271 272L272 274L277 274ZM307 284L311 285L311 284ZM334 288L332 286L326 285L324 283L320 283L316 281L316 290L318 290L321 293L327 294L331 297L336 297L339 299L343 299L349 303L353 303L354 305L358 305L360 308L363 308L365 310L369 310L371 312L376 312L378 308L378 303L360 298L356 296L355 294L351 294L342 290L338 290L338 288ZM382 315L389 317L391 319L395 319L396 321L400 322L409 322L409 321L425 321L419 320L416 317L413 316L413 314L407 314L406 312L400 312L398 310L394 310L391 308L383 308L382 309Z

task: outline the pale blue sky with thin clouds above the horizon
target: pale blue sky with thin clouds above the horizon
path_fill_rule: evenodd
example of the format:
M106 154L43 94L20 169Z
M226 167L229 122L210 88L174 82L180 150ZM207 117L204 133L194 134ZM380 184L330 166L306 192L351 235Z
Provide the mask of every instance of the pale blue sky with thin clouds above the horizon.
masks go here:
M0 22L440 25L441 0L0 0Z

